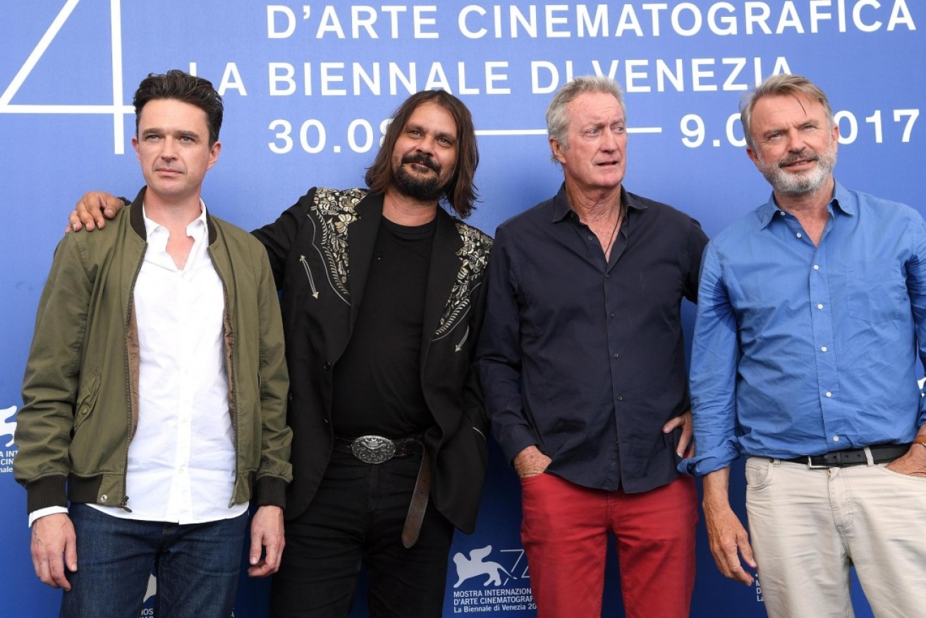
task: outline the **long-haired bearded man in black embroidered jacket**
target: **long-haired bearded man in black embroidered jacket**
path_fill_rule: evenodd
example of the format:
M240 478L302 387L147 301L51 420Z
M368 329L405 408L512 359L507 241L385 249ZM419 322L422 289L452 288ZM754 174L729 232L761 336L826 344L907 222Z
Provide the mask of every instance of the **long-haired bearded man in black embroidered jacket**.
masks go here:
M255 231L291 372L274 618L346 615L361 558L371 615L442 614L453 530L475 526L487 459L472 363L492 240L439 202L469 215L478 160L469 110L421 92L396 111L369 189L315 187ZM72 226L102 227L118 201L85 195Z

